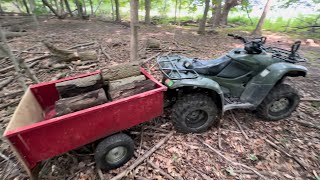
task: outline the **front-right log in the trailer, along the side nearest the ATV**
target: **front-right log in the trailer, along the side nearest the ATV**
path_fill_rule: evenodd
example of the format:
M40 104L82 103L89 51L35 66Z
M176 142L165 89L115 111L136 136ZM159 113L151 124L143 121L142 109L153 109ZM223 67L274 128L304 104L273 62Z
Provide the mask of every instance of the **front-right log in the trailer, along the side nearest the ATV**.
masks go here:
M135 82L132 84L122 86L123 89L118 88L118 90L109 91L109 95L111 99L118 100L118 99L126 98L129 96L133 96L136 94L140 94L155 88L155 83L150 79L140 81L140 82Z

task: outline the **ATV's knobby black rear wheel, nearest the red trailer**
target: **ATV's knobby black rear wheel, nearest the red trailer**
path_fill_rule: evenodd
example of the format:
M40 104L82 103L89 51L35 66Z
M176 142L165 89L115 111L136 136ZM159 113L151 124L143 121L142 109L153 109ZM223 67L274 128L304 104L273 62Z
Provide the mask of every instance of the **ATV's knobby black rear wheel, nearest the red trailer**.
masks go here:
M173 125L181 133L200 133L218 121L218 109L204 94L187 94L172 107Z

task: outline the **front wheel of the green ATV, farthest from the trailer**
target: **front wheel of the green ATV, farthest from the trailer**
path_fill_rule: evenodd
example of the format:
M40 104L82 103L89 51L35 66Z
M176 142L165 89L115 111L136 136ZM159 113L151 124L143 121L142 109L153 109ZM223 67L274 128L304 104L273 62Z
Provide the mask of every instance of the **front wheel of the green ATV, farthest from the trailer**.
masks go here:
M257 108L257 116L266 121L289 117L300 102L298 92L287 84L275 86Z

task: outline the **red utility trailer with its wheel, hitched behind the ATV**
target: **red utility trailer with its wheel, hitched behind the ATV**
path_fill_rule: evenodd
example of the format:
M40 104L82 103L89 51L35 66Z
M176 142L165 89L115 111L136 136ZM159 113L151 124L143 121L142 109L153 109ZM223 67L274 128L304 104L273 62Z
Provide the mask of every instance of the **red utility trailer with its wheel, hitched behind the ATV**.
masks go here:
M4 137L31 177L41 161L107 136L97 146L95 160L104 169L119 167L131 158L133 142L116 133L163 113L167 88L141 68L141 73L156 83L153 90L44 120L47 109L59 99L55 83L98 73L32 85L23 95Z

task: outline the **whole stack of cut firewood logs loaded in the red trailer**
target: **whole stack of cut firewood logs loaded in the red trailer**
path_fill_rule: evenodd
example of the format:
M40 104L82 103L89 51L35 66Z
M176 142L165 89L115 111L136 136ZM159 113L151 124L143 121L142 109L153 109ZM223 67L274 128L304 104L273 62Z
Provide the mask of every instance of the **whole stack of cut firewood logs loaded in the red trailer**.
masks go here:
M154 89L155 83L140 73L137 63L102 69L100 74L56 83L60 99L56 116L97 106Z

